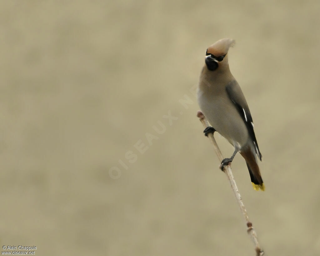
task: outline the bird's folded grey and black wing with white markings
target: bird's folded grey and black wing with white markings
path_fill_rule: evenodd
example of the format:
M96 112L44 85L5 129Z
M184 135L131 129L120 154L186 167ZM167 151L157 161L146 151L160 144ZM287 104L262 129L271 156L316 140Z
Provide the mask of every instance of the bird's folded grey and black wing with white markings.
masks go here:
M237 81L233 80L232 82L228 83L226 86L226 91L230 100L235 104L236 109L238 110L245 125L247 126L249 136L252 139L253 144L255 145L256 153L261 161L262 155L258 147L256 135L254 134L252 116L251 116L247 101L245 100L243 92L239 84L237 83Z

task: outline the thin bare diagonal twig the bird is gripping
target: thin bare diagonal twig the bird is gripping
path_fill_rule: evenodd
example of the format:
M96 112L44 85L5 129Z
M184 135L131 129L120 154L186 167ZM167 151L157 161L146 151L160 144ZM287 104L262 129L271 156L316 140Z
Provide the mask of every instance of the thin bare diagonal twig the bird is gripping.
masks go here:
M200 118L200 121L203 124L204 128L209 126L208 121L205 119L205 117L204 117L204 115L202 114L201 111L198 111L197 117ZM217 154L217 156L219 158L219 161L221 163L224 158L223 158L223 156L221 154L221 151L220 151L220 149L219 149L219 147L217 145L217 142L214 139L212 133L209 133L208 136L209 136L209 138L211 139L211 141L213 143L214 150L216 151L216 154ZM230 182L230 185L231 185L231 188L233 190L233 193L236 196L237 202L238 202L238 204L240 206L240 209L241 209L241 212L242 212L242 214L244 216L246 225L248 227L247 232L251 236L251 240L252 240L252 242L253 242L253 244L255 246L256 255L257 256L262 256L262 255L264 255L264 252L260 248L260 244L258 242L257 233L256 233L256 231L254 230L254 228L252 226L252 222L249 221L249 216L248 216L247 210L245 209L244 204L242 202L242 198L241 198L241 195L239 193L239 189L238 189L238 187L236 185L235 178L233 177L230 165L226 165L223 171L227 174L227 177L228 177L228 180Z

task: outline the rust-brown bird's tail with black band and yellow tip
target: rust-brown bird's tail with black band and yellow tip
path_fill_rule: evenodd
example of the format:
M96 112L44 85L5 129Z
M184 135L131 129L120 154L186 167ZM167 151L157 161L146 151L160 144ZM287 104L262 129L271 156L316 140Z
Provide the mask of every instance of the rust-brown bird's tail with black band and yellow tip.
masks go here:
M251 150L243 151L240 154L244 157L245 162L248 166L253 189L261 189L262 191L264 191L265 187L261 178L260 169L256 157L253 155Z

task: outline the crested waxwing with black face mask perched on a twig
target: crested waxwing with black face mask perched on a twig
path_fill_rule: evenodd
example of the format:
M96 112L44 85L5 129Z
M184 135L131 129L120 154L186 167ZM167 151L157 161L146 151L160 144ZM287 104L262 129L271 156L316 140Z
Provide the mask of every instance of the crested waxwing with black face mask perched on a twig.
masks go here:
M211 125L204 130L204 135L218 132L235 148L230 158L222 160L221 170L230 165L239 152L247 164L253 189L264 191L257 160L258 157L261 161L262 155L254 133L250 109L229 69L228 51L234 44L235 40L223 38L206 51L197 88L199 107Z

